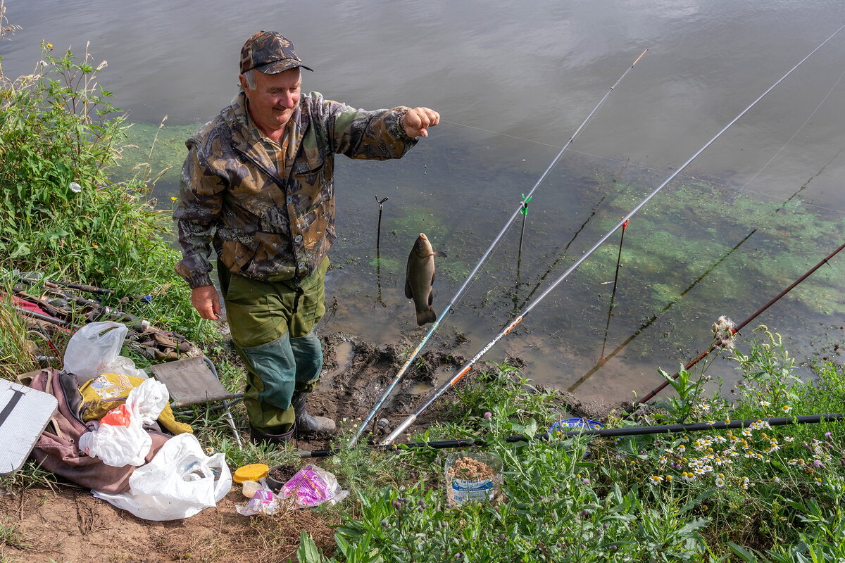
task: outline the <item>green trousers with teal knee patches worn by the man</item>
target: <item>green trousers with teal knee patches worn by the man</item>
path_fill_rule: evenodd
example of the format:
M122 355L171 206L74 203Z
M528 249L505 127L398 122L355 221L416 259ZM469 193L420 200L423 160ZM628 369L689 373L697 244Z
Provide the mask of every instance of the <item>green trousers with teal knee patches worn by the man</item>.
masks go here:
M323 368L314 327L325 314L329 258L306 278L258 281L229 270L217 272L232 341L247 365L243 403L249 422L270 434L290 430L294 391L312 392Z

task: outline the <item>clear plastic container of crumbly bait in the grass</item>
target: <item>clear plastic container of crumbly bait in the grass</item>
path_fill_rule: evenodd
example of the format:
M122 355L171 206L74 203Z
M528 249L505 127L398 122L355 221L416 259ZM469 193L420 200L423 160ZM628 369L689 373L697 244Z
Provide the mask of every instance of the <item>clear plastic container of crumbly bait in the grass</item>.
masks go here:
M461 506L498 501L502 495L502 459L492 452L454 452L446 457L446 497Z

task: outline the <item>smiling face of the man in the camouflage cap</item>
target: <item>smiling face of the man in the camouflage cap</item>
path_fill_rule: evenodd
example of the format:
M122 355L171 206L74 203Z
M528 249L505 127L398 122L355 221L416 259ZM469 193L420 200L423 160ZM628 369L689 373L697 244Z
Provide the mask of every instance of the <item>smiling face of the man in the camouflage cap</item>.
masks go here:
M299 104L302 79L299 68L289 68L278 74L255 73L255 89L241 78L241 87L249 100L249 115L262 133L268 134L285 127Z

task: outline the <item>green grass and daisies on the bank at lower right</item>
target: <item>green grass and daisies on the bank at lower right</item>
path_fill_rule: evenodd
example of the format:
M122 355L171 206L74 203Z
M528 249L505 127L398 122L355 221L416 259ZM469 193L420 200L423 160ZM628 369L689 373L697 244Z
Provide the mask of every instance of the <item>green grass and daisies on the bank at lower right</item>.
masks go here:
M457 393L454 422L417 438L484 436L504 461L504 501L450 506L448 452L343 452L332 470L359 498L337 528L340 554L303 549L300 560L842 560L842 425L766 419L841 411L845 371L816 365L817 379L800 381L780 337L759 336L749 354L733 352L738 387L705 394L706 375L682 371L667 401L638 420L607 421L759 420L738 430L509 444L558 420L555 393L507 367L482 376Z

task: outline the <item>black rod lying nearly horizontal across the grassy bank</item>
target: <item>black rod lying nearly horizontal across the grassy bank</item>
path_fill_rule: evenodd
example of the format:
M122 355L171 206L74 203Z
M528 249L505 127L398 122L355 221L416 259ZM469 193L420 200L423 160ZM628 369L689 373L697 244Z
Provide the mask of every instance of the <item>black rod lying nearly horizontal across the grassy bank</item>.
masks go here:
M824 422L837 422L845 419L845 414L805 414L802 416L777 416L771 419L745 419L745 420L731 420L726 422L719 420L717 422L695 422L687 425L659 425L659 426L626 426L624 428L595 428L581 430L569 430L566 432L543 432L542 434L535 434L534 436L526 436L523 434L515 434L504 438L505 443L515 443L519 441L532 440L561 440L563 438L570 438L574 436L604 436L604 437L619 437L619 436L647 436L650 434L686 434L687 432L706 432L713 430L731 430L734 428L748 428L751 425L759 425L761 422L770 426L785 426L785 425L812 425ZM434 448L444 450L452 447L472 447L488 445L487 438L459 438L455 440L433 440L433 441L412 441L406 444L373 444L372 447L377 451L391 451L399 452L401 450L412 448ZM324 449L324 450L300 450L297 452L299 457L329 457L340 452L340 448Z

